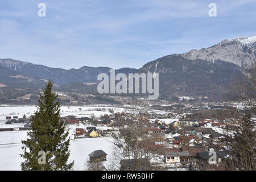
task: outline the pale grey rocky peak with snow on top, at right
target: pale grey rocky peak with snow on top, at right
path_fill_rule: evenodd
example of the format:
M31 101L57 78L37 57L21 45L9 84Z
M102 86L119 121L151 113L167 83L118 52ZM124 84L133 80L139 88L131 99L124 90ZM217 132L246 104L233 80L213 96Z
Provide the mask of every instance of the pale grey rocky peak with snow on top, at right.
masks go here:
M256 36L222 40L212 47L193 49L181 56L190 60L202 59L211 62L220 59L241 68L249 68L256 61Z

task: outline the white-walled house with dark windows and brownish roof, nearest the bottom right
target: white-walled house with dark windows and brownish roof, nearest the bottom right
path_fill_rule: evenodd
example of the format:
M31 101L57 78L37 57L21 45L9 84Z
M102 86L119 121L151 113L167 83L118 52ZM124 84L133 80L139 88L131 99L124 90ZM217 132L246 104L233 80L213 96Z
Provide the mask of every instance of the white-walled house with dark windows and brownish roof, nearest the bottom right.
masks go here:
M164 151L164 162L166 163L179 163L185 160L188 160L189 152L181 151L181 152L172 152L172 151Z

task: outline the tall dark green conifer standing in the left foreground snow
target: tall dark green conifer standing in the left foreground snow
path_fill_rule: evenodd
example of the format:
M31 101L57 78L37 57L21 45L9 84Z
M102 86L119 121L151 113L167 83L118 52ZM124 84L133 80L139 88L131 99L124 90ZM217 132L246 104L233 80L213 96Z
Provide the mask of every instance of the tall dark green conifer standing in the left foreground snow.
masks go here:
M24 154L21 156L25 159L22 170L69 170L73 166L73 162L68 164L68 131L60 120L60 102L52 86L49 80L43 94L40 93L38 109L31 118L32 130L27 133L28 139L22 140Z

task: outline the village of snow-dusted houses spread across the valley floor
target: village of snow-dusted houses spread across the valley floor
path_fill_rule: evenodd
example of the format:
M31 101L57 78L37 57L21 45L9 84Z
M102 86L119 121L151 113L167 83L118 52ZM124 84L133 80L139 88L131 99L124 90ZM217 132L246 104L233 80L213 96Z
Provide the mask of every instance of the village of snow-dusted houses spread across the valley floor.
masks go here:
M108 147L101 147L99 143L95 148L97 150L89 150L91 146L88 146L88 154L81 151L88 158L87 167L93 163L102 163L102 169L105 170L214 170L222 159L228 158L229 142L232 142L237 127L236 115L207 118L211 114L189 113L185 109L187 106L179 113L174 112L177 111L177 105L169 106L168 109L162 106L166 111L162 107L159 110L150 109L152 107L156 106L134 106L130 109L119 106L81 106L74 107L72 114L73 107L68 106L65 107L66 111L63 109L60 119L65 122L72 142L84 141L82 145L90 143L93 146L94 143L90 141L94 139L111 140ZM217 111L223 114L226 110ZM228 112L232 113L230 110ZM27 115L2 115L0 136L23 132L22 139L26 139L25 132L31 130L31 116L32 112ZM8 144L21 146L20 141L3 142L3 138L0 141L0 150ZM213 151L217 159L212 161ZM81 160L85 158L80 157ZM214 160L217 160L214 164L210 163Z

